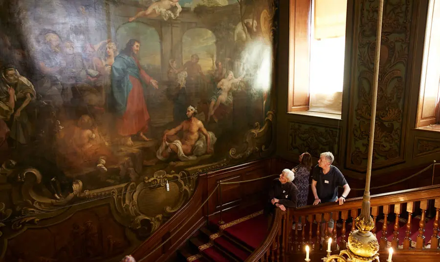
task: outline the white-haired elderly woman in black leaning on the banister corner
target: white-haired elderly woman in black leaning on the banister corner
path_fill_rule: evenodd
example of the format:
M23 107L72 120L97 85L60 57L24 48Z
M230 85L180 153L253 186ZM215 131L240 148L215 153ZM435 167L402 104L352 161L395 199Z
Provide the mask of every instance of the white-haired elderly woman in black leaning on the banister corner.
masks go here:
M264 208L266 215L273 215L275 208L286 211L286 208L295 208L298 202L298 188L292 183L295 173L290 169L281 172L280 177L272 181L269 197ZM269 219L269 223L272 219Z

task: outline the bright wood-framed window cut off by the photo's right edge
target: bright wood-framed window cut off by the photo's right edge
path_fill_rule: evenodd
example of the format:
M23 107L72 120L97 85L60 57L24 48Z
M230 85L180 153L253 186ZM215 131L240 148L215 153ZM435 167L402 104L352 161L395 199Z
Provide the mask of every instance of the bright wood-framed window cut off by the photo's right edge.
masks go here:
M440 0L430 0L426 22L417 127L440 124Z

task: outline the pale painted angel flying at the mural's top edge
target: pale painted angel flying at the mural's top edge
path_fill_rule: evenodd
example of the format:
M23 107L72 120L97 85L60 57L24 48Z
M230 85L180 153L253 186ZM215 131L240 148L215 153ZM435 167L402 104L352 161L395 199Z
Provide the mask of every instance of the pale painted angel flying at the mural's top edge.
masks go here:
M147 8L147 10L140 11L134 17L129 19L129 22L140 17L155 18L162 16L163 20L167 21L170 17L176 19L182 7L179 4L179 0L151 0L153 3Z

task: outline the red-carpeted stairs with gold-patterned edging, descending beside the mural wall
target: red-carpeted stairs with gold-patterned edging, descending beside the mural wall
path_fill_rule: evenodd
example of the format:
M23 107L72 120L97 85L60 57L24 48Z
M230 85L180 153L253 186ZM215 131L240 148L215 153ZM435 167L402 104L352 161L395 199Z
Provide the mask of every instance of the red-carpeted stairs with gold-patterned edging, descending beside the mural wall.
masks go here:
M178 250L179 261L187 262L242 262L266 238L267 218L263 210L250 207L223 214L209 220L209 225L198 230L186 246Z

